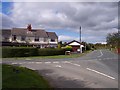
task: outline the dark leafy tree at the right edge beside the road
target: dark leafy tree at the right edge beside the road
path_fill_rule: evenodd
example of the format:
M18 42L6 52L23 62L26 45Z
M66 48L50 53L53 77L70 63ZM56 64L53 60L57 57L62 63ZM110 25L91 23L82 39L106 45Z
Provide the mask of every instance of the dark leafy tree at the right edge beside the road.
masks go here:
M120 44L120 32L109 33L106 37L106 41L108 45L111 45L111 47L118 47L118 44Z

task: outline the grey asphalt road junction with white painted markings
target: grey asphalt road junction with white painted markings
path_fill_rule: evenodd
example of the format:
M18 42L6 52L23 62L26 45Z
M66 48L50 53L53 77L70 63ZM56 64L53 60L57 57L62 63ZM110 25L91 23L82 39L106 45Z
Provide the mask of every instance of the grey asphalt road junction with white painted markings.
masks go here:
M54 88L118 88L118 55L109 50L67 59L7 58L2 63L36 70Z

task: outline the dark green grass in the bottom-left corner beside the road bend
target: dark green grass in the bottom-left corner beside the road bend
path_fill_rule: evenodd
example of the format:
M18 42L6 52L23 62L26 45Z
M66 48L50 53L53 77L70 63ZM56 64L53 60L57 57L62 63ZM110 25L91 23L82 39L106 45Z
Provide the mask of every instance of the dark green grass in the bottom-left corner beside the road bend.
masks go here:
M25 67L2 65L2 90L6 88L50 88L49 83L37 72Z

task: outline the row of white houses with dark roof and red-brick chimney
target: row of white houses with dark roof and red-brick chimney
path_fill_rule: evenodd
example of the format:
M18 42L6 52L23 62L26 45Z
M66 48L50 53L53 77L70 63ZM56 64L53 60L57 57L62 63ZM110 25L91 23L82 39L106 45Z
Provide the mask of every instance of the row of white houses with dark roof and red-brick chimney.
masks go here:
M8 43L9 42L9 43ZM31 45L40 48L57 47L58 36L44 29L27 28L2 29L2 45Z

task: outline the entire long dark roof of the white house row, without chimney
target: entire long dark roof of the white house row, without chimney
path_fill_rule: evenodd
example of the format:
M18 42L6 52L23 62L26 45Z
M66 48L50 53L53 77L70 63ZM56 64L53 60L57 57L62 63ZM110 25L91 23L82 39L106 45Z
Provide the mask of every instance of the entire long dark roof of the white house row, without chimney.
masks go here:
M31 31L27 30L27 28L12 28L11 29L2 29L2 35L5 37L9 37L11 35L17 36L38 36L43 38L56 39L58 36L55 32L46 32L44 29L32 29ZM1 33L1 32L0 32Z

